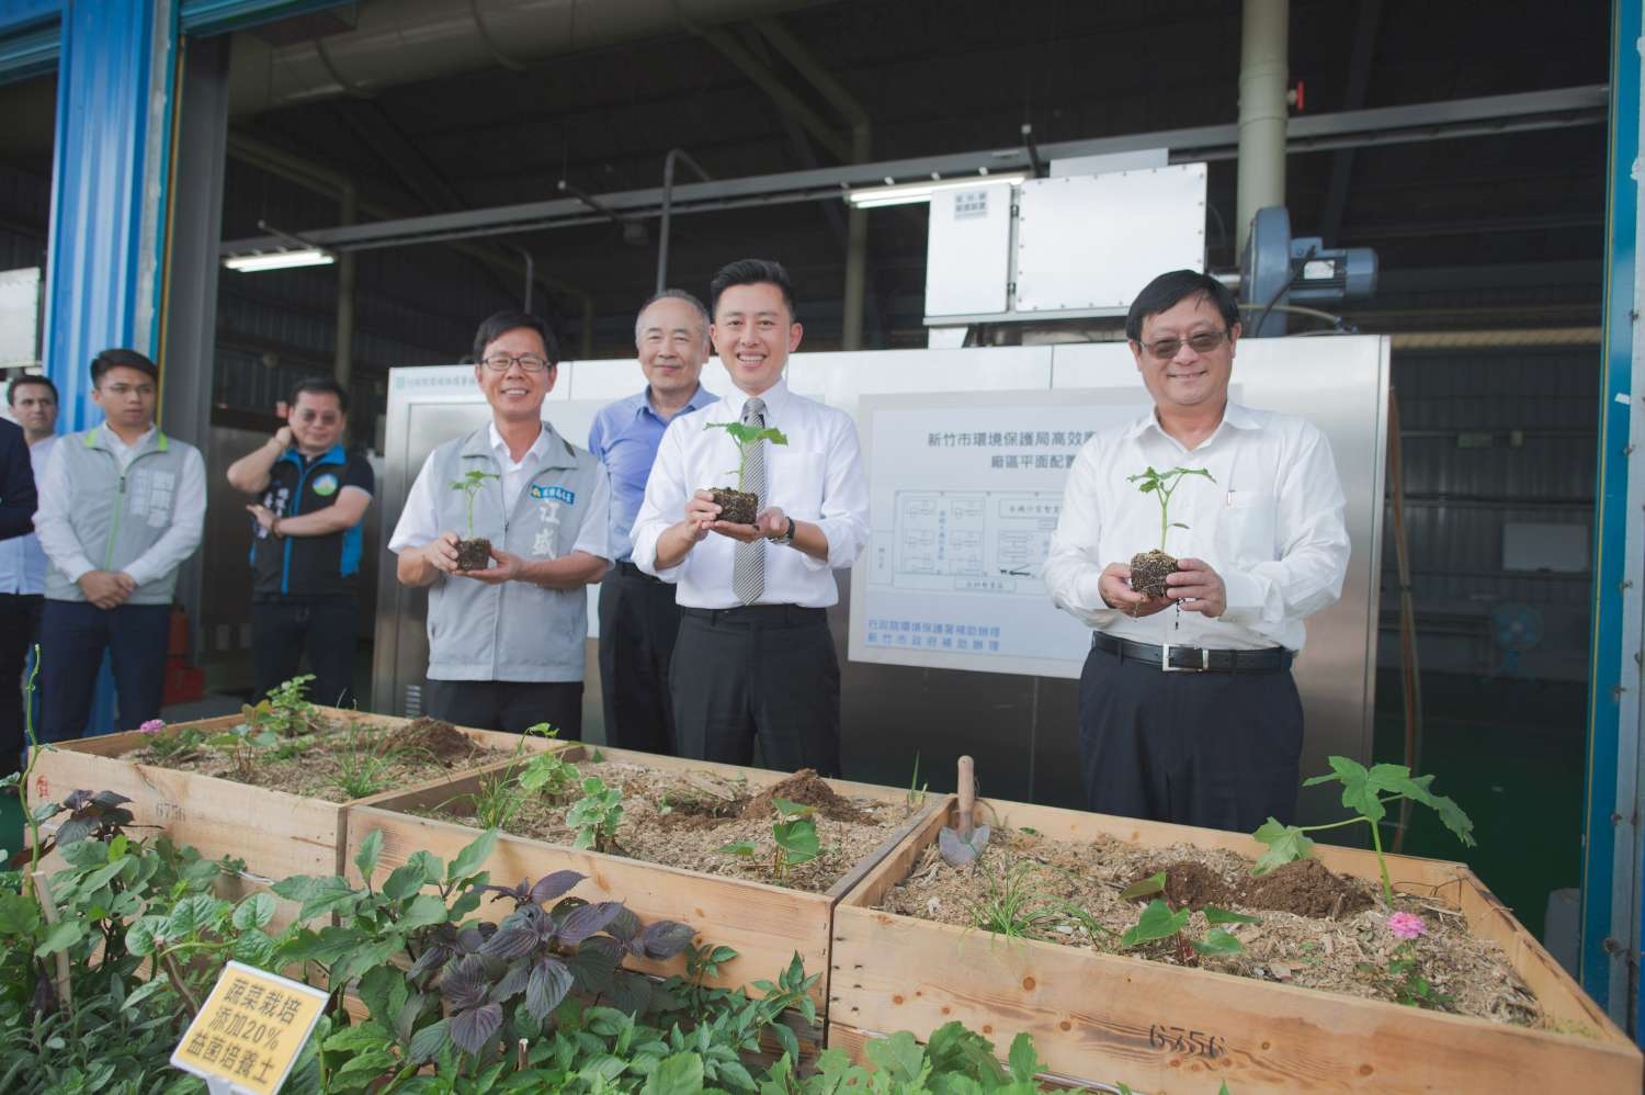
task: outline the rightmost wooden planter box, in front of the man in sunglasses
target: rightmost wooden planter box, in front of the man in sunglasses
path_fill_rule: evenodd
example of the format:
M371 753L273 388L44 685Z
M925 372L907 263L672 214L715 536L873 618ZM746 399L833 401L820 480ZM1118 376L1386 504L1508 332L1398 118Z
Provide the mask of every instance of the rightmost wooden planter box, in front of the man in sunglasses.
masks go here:
M1255 858L1240 833L1012 802L994 818L1056 840L1105 835L1142 846L1191 843ZM1459 863L1388 856L1395 886L1431 891L1474 935L1499 944L1571 1034L1420 1011L875 911L948 817L875 866L834 914L829 1046L854 1052L875 1034L959 1019L1000 1054L1018 1031L1054 1077L1125 1082L1137 1092L1630 1092L1640 1052L1489 889ZM1377 879L1370 851L1318 845L1331 869ZM1576 1032L1581 1031L1581 1032ZM1107 1088L1112 1090L1112 1088Z

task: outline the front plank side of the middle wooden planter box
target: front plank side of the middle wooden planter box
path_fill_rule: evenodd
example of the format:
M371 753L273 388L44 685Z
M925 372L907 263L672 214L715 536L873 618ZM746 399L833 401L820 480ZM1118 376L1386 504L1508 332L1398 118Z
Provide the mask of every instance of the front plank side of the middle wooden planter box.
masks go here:
M411 853L428 850L451 860L480 833L464 825L359 807L349 823L349 878L359 881L354 855L372 830L382 830L383 851L378 873L392 871ZM513 884L538 879L551 871L572 869L587 878L572 891L589 901L622 901L642 924L683 920L697 929L697 942L724 944L737 950L716 986L739 988L781 973L795 953L808 973L821 973L814 998L826 1001L829 929L832 902L821 894L781 889L735 878L696 874L656 863L640 863L595 851L561 848L538 840L503 835L485 861L492 881ZM498 920L512 911L507 901L480 906L480 916ZM684 958L666 963L633 962L648 973L684 973Z

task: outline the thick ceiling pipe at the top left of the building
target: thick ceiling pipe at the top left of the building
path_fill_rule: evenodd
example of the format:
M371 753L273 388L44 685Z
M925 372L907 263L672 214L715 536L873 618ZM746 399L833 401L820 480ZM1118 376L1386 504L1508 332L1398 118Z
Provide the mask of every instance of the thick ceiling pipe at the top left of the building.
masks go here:
M824 0L375 0L355 28L286 46L237 35L229 110L258 114L345 94L813 7Z

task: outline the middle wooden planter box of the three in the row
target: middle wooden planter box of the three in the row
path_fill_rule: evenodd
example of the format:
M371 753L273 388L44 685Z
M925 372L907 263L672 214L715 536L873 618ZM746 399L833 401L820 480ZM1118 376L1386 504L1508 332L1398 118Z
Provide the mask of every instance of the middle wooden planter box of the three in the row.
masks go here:
M600 753L607 761L640 764L660 771L709 771L725 777L740 776L755 790L786 779L786 772L770 772L732 764L686 761L627 749L600 749ZM581 759L581 756L584 753L579 746L571 746L566 753L566 757L571 761ZM451 863L461 848L480 835L479 830L452 822L416 817L408 813L408 810L439 807L454 795L472 790L477 777L479 774L469 774L438 789L387 795L370 805L355 807L349 823L349 848L342 856L349 879L354 883L360 881L359 871L354 868L354 853L372 830L382 830L383 833L380 873L400 866L411 853L419 850L433 851L446 863ZM827 784L842 795L859 795L880 802L905 802L908 795L906 790L852 784L839 779L831 779ZM893 830L867 858L822 894L783 889L781 886L742 878L702 874L599 851L581 851L508 833L503 833L497 841L497 850L485 861L484 869L490 871L492 883L505 886L512 886L525 878L535 881L551 871L581 871L587 878L572 891L577 897L589 901L622 901L640 917L642 924L651 924L653 920L683 920L691 924L697 930L699 944L712 942L737 950L739 957L721 970L721 976L707 981L714 986L742 988L753 980L775 980L798 952L806 973L822 975L814 993L821 1018L827 1003L829 935L834 927L834 906L849 889L862 881L873 864L900 845L913 840L918 832L923 832L931 817L939 817L946 808L946 799L928 795L918 813ZM508 902L489 901L480 906L480 916L494 920L502 919L510 911L512 906ZM660 976L684 973L684 958L673 958L666 963L630 958L628 965Z

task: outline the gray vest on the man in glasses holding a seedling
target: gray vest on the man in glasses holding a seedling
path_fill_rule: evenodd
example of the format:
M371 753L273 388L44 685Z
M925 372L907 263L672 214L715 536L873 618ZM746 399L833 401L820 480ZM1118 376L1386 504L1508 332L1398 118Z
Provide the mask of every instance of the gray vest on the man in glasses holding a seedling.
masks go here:
M544 430L553 426L543 423ZM462 491L443 489L470 469L500 474L489 433L446 441L429 456L441 529L467 527ZM605 522L589 509L600 464L553 433L526 486L503 512L502 479L487 479L474 497L474 535L525 560L561 558L577 543L584 522ZM582 680L589 634L587 593L543 589L525 581L485 585L441 576L428 593L428 675L433 680Z

